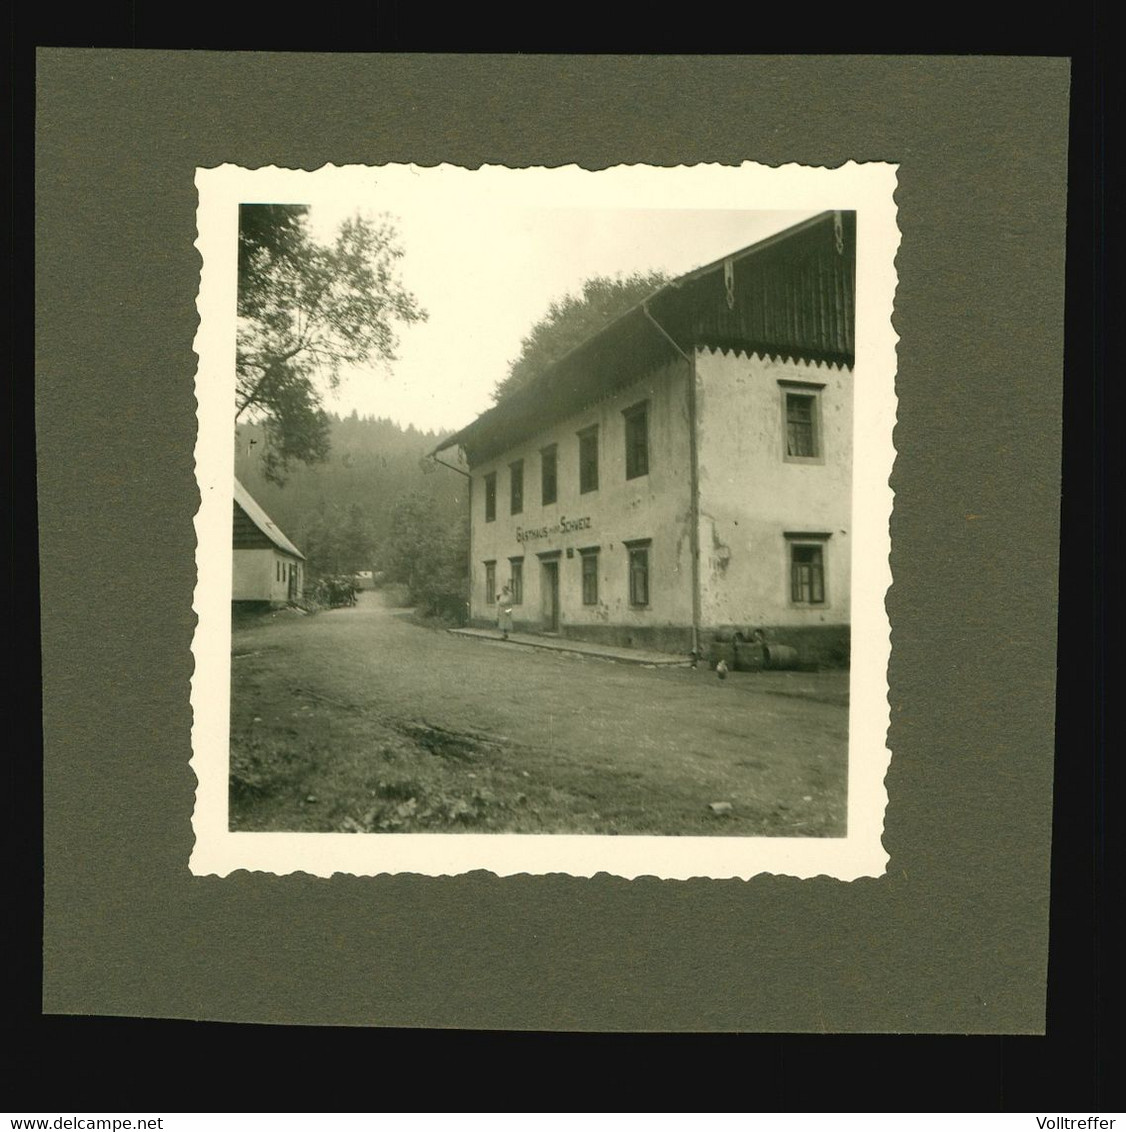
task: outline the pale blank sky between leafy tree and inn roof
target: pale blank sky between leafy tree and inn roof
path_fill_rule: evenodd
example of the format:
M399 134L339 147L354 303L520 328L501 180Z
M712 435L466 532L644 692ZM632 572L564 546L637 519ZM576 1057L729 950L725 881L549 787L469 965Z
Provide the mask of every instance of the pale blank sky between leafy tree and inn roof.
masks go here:
M669 207L668 195L650 201L638 192L634 206L628 192L576 192L565 178L556 178L559 191L543 191L559 172L385 166L302 179L318 239L330 239L349 215L388 214L404 251L403 281L430 316L401 329L397 361L347 375L328 408L427 430L461 428L490 406L493 386L551 301L584 280L647 269L680 275L813 214L696 207L690 194L685 207Z

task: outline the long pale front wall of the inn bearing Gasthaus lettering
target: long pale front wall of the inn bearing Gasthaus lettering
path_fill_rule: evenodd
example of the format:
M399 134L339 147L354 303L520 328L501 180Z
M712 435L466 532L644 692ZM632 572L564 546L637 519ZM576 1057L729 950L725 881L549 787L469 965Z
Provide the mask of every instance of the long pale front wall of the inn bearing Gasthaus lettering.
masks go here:
M495 620L497 607L485 602L488 559L497 563L497 591L508 581L509 559L524 558L523 602L513 610L516 627L543 627L540 555L559 558L559 631L604 635L619 627L618 640L652 638L668 626L691 625L690 463L688 367L672 363L530 438L472 471L471 616ZM622 410L648 401L648 473L626 479ZM599 426L599 487L579 492L578 436ZM558 497L543 505L540 449L555 444ZM509 464L524 460L524 509L509 512ZM497 517L485 522L484 480L497 473ZM581 521L577 529L565 529ZM532 532L522 538L523 532ZM650 603L629 603L628 551L624 540L652 539ZM600 548L599 602L583 604L581 547ZM574 557L567 557L568 548Z

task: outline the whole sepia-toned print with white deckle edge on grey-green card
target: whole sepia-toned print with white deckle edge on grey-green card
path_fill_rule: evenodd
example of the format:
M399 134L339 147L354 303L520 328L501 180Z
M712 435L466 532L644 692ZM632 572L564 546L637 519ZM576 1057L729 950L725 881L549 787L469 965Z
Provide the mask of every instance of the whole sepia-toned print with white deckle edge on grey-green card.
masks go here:
M879 875L894 183L199 170L192 869Z

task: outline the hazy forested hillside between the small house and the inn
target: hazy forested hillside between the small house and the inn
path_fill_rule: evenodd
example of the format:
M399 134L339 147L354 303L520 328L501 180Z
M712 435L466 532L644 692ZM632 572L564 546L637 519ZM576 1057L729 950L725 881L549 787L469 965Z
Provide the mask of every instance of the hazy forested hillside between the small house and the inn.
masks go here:
M329 415L327 461L294 466L280 487L266 479L265 430L239 424L234 469L306 556L310 578L384 571L407 582L416 602L453 612L465 571L469 480L426 458L440 439L355 412Z

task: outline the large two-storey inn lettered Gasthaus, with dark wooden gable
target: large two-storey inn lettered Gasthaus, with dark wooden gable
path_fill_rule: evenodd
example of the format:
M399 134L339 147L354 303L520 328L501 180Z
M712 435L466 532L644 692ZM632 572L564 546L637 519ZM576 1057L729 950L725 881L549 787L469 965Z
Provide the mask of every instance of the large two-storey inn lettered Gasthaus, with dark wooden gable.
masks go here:
M848 661L856 215L669 283L449 437L470 615L706 653L762 629Z

